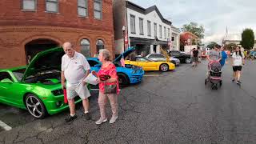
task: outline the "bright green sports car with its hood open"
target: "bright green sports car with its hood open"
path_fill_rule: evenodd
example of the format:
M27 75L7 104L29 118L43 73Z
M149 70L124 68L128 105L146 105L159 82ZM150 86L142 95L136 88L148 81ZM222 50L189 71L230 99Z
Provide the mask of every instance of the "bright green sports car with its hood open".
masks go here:
M61 85L62 48L38 53L28 66L0 70L0 103L26 109L35 118L68 108ZM75 98L75 102L81 102Z

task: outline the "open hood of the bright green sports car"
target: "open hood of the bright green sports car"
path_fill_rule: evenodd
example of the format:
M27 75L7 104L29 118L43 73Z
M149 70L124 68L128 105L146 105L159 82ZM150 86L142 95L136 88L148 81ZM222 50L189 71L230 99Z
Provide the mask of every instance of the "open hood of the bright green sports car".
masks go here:
M61 70L62 56L65 54L62 47L44 50L38 53L26 67L22 82L26 78L46 70Z

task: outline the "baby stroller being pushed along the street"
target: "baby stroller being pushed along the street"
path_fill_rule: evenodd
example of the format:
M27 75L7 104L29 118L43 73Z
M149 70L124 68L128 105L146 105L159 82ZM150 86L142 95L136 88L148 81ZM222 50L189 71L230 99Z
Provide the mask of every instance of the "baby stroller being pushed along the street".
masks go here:
M217 61L209 62L208 70L205 85L209 82L212 90L218 90L218 85L222 86L222 66Z

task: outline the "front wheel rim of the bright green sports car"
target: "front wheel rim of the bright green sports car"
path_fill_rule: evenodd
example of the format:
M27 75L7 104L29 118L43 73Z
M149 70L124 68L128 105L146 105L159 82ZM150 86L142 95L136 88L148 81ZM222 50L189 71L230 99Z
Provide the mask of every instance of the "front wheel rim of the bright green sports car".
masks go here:
M39 102L38 98L35 98L34 96L27 97L26 108L35 118L42 117L42 105Z

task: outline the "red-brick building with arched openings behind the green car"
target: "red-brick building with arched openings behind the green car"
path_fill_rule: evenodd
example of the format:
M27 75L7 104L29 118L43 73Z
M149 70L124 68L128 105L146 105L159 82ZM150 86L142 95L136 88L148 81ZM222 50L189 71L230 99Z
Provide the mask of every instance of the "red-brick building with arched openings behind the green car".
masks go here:
M2 0L0 68L24 66L39 51L69 41L86 57L114 54L112 0Z

